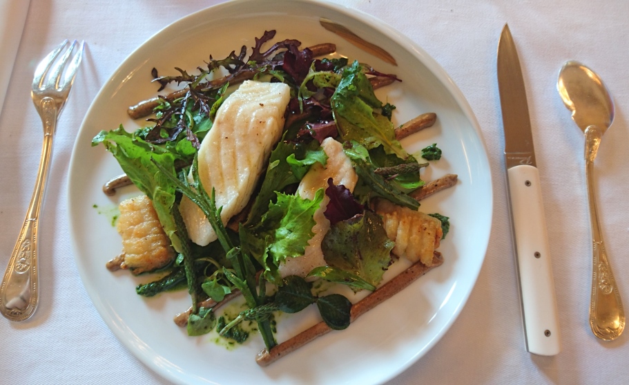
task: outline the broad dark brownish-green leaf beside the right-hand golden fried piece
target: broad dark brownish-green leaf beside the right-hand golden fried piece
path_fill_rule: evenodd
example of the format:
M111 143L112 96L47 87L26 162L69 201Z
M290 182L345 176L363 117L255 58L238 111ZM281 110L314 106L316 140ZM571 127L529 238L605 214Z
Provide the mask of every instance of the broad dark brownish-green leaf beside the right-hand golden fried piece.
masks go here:
M332 225L321 249L331 267L336 267L377 286L391 263L395 243L387 237L383 220L369 210L363 215Z

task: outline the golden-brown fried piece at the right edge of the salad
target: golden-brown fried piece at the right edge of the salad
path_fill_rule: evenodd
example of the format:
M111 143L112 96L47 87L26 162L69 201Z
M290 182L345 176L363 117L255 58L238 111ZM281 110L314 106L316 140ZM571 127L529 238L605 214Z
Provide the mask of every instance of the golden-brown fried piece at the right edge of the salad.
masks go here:
M393 254L432 265L434 250L443 236L440 220L385 199L377 200L376 213L383 217L387 236L396 243Z

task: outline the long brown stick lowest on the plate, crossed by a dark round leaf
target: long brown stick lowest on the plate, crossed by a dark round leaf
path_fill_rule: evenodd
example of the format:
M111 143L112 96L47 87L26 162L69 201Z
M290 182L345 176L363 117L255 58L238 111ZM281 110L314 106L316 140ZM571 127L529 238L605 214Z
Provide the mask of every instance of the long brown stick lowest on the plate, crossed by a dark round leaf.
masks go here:
M380 303L383 303L386 299L393 297L394 294L397 294L404 288L406 288L410 283L418 279L420 276L431 270L433 267L437 267L443 263L443 258L441 253L435 252L434 257L432 259L433 265L431 267L427 267L422 263L418 262L409 267L404 272L401 272L391 281L385 283L381 288L378 288L376 291L369 294L365 299L358 301L354 306L351 307L350 313L350 322L354 322L355 319L360 317L365 312L375 308ZM317 323L315 326L300 332L300 334L288 339L287 341L282 342L276 346L273 346L271 350L267 350L266 348L262 349L260 353L258 353L258 357L255 357L255 361L260 366L269 366L273 364L273 362L277 361L281 357L291 353L293 350L296 350L305 344L309 343L313 339L316 339L320 335L325 335L327 332L332 330L329 326L326 325L325 322Z

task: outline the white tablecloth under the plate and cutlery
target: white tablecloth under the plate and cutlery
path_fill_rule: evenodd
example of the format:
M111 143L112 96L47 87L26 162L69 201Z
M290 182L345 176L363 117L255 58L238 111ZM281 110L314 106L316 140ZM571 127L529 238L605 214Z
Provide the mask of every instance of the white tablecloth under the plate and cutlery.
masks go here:
M68 162L97 91L139 44L171 22L220 1L32 0L0 115L0 268L8 263L39 162L41 123L32 108L35 65L59 41L84 39L86 55L61 115L41 218L41 298L32 319L0 319L0 383L166 384L131 355L97 314L72 258L66 216ZM481 125L492 167L492 234L478 282L445 337L390 384L628 384L629 332L600 341L588 325L590 230L583 135L555 83L577 59L603 77L616 118L595 165L606 247L629 304L629 2L336 0L403 31L445 68ZM541 175L563 351L525 351L510 220L496 47L508 22L528 91ZM473 203L471 203L473 204Z

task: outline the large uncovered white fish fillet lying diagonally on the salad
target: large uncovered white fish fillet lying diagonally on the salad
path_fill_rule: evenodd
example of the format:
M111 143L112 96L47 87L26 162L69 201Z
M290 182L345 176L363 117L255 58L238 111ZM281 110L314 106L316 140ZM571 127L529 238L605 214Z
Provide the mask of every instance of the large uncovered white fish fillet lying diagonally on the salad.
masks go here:
M223 102L199 150L199 178L216 207L222 207L223 224L249 201L273 145L280 140L290 87L283 83L248 80ZM180 212L188 236L205 246L217 238L205 214L188 198Z

